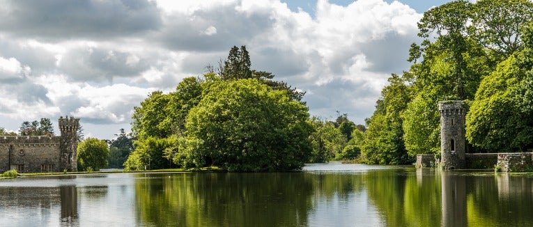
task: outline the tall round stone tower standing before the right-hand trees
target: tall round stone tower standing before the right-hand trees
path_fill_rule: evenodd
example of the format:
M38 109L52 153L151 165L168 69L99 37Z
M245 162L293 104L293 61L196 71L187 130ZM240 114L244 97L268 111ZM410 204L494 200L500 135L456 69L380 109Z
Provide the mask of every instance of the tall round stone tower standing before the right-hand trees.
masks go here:
M465 108L463 101L439 102L440 158L443 169L465 168Z

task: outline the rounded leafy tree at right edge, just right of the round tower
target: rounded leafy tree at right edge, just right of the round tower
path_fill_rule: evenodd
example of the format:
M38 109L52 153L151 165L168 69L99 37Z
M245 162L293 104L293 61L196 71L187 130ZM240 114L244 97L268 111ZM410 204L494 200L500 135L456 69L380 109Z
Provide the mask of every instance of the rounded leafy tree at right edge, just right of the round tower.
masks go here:
M466 118L471 143L493 152L533 148L533 23L525 48L509 56L482 82Z

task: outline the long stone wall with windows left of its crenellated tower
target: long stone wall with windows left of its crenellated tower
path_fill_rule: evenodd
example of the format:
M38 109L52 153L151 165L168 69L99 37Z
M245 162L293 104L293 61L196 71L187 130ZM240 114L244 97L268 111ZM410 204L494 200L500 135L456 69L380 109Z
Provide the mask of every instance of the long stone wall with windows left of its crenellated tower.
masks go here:
M63 171L60 142L60 136L0 136L0 171Z

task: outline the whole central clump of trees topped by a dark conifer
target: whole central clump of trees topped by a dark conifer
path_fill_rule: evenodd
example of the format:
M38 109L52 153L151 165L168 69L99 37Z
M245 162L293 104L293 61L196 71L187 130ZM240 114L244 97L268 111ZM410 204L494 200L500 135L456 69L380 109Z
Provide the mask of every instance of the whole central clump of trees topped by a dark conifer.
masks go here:
M151 93L134 109L136 140L125 169L300 169L311 155L304 93L250 65L246 48L233 47L218 74Z

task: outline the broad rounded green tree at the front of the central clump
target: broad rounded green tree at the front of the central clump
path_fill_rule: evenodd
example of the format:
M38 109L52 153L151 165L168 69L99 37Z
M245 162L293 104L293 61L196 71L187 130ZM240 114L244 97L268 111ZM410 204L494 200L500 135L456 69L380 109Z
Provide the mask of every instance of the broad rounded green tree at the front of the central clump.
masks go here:
M307 107L255 79L213 84L186 120L176 164L229 171L300 169L311 155Z

